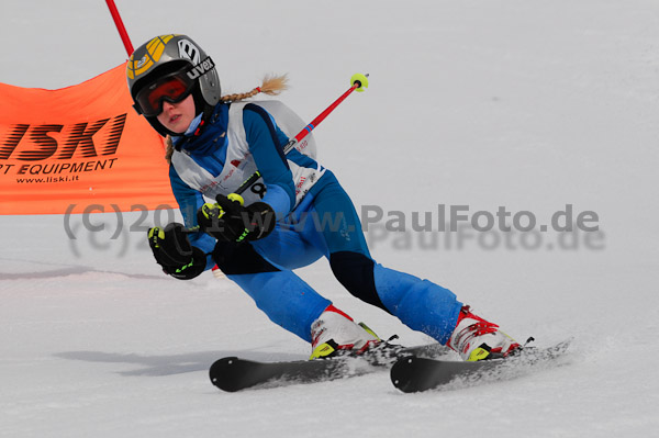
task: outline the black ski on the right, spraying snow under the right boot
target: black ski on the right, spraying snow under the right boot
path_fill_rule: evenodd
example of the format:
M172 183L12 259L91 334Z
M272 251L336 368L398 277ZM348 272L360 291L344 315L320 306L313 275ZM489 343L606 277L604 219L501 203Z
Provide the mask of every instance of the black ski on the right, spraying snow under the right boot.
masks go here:
M391 382L402 392L422 392L433 389L469 386L482 382L520 377L541 364L549 364L563 356L571 340L548 348L525 347L505 359L476 362L437 360L416 355L400 358L391 367Z

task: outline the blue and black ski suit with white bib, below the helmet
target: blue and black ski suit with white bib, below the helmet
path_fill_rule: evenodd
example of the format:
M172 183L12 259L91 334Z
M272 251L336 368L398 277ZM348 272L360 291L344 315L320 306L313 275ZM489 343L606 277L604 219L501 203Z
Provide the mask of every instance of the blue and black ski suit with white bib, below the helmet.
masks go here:
M234 192L255 170L261 178L244 192L246 204L259 200L277 212L275 229L260 240L234 244L193 234L191 244L208 255L206 269L216 263L272 322L311 341L312 323L332 303L293 270L325 257L353 295L446 344L462 303L445 288L372 259L334 173L298 149L283 154L297 132L282 131L280 120L291 116L273 102L219 103L200 128L172 138L169 177L186 226L197 225L204 202Z

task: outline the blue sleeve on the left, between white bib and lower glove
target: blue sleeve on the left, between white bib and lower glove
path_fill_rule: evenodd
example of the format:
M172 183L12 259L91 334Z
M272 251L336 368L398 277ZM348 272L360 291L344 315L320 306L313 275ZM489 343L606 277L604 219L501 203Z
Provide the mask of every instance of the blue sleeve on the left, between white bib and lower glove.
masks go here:
M179 177L174 166L169 167L169 181L171 182L171 191L174 198L179 204L181 214L183 215L183 222L187 228L196 227L197 224L197 211L203 205L204 200L200 192L191 189L183 180ZM206 256L205 269L211 269L215 266L211 252L215 247L215 239L205 233L191 233L188 235L190 245L204 251Z

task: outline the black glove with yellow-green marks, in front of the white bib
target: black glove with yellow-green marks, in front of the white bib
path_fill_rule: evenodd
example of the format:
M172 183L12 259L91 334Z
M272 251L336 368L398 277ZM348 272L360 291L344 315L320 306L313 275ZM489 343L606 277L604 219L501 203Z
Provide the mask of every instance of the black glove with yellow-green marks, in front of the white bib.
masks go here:
M219 194L215 204L205 203L197 212L197 223L204 233L225 242L248 242L266 237L275 228L277 218L265 202L243 205L241 195Z

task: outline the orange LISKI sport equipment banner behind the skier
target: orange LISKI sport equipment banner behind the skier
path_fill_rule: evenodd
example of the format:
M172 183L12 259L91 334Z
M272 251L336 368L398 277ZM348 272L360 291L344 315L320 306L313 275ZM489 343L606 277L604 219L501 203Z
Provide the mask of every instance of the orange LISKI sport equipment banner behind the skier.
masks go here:
M0 214L175 207L163 138L125 64L59 90L0 83Z

